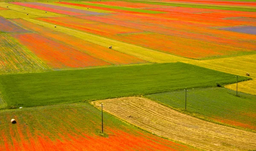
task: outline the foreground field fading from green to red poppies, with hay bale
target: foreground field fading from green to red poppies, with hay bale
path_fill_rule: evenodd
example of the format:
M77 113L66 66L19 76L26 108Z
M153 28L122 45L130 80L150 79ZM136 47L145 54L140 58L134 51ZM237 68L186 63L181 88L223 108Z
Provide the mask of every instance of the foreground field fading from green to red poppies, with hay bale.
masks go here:
M88 103L1 110L0 150L195 150L159 138L103 113ZM11 124L14 118L17 124ZM107 137L107 138L105 138Z

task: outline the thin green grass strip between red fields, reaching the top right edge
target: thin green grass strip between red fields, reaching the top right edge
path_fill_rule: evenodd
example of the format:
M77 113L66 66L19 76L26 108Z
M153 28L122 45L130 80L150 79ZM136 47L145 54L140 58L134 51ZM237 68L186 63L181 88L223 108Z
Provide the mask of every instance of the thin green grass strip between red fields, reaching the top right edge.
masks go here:
M130 2L130 1L129 1ZM134 3L146 3L146 4L157 4L163 6L179 6L179 7L188 7L188 8L199 8L199 9L221 9L221 10L230 10L230 11L244 11L244 12L256 12L256 8L249 6L220 6L220 5L207 5L207 4L183 4L183 3L172 3L172 2L147 2L147 1L131 1ZM247 8L244 8L247 7Z

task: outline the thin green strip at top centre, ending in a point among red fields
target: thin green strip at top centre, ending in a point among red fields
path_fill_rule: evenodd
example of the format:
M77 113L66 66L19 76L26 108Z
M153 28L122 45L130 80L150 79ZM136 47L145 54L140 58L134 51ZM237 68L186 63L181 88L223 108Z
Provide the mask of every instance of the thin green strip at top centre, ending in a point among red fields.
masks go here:
M89 6L97 6L97 7L108 8L108 9L119 9L119 10L123 10L123 11L141 12L141 13L148 13L148 14L165 13L165 12L159 12L159 11L135 9L135 8L121 7L121 6L110 6L110 5L103 5L103 4L96 4L96 3L86 3L86 2L71 2L71 3L83 4L83 5L89 5Z

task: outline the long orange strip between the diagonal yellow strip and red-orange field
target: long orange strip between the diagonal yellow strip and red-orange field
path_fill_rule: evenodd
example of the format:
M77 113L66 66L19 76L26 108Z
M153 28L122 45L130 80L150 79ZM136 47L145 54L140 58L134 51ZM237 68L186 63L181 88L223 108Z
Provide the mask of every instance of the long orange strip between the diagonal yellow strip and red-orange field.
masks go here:
M65 45L70 45L74 49L85 52L95 58L101 59L111 64L139 64L146 62L134 56L127 55L107 47L99 46L97 44L84 41L80 38L70 36L62 32L56 32L52 29L39 26L26 20L15 19L12 21L15 21L15 23L23 26L24 28L38 32L43 36L54 39L55 41L61 41Z

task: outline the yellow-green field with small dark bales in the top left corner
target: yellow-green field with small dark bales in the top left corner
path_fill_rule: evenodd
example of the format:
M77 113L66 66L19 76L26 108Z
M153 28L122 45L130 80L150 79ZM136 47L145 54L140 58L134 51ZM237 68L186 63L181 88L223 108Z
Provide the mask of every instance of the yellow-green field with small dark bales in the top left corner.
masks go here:
M5 18L27 18L27 17L64 17L66 15L61 15L61 14L57 14L57 13L53 13L53 12L47 12L45 13L45 11L42 10L38 10L38 9L32 9L29 7L24 7L24 6L18 6L18 5L14 5L14 4L10 4L10 3L0 3L0 7L6 8L6 6L9 6L8 9L12 10L12 12L10 12L9 10L6 10L3 17ZM23 9L25 8L25 9ZM13 13L15 12L15 14L8 14L9 13ZM0 12L1 13L1 12ZM26 15L26 14L29 15Z

